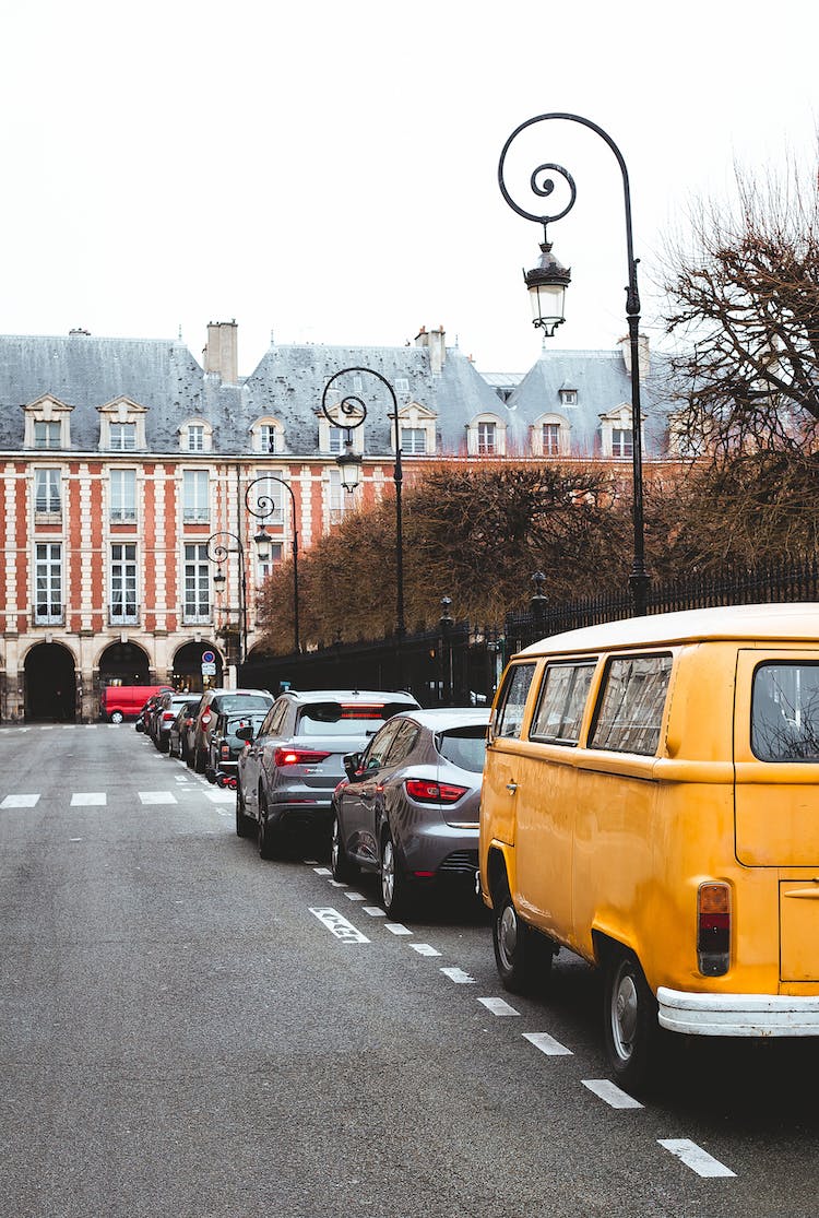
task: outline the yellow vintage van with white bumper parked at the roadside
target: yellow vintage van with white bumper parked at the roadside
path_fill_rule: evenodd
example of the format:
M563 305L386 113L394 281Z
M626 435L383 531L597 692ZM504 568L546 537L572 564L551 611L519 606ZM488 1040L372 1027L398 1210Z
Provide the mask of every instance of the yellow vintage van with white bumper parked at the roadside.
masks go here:
M819 604L576 630L510 661L489 721L481 890L501 982L568 948L639 1088L658 1026L819 1035Z

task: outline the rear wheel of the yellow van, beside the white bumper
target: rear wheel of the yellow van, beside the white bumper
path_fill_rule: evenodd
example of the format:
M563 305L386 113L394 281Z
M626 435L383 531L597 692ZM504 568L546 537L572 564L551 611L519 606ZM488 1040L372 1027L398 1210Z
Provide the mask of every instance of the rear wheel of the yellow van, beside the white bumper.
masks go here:
M630 951L615 951L606 961L602 1035L617 1083L632 1090L644 1089L656 1063L660 1024L657 1000Z

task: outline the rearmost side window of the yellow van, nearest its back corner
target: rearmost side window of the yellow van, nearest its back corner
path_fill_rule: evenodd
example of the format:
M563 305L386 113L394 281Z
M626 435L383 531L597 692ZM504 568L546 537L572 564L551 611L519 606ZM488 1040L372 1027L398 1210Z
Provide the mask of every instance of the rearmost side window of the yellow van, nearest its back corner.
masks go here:
M651 756L660 744L671 655L629 655L606 665L590 748Z

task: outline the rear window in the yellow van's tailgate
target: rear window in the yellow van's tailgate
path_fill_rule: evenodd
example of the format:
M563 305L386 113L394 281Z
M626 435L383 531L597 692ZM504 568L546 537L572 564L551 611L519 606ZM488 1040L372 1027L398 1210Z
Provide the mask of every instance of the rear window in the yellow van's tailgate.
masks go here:
M819 761L819 664L761 664L751 748L761 761Z

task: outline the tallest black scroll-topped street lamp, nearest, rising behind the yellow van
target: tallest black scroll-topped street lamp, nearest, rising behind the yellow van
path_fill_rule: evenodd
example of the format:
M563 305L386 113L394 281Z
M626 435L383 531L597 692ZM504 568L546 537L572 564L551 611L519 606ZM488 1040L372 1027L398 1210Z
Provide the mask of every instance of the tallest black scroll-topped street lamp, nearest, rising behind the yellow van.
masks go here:
M577 196L577 190L574 186L574 180L571 174L559 164L545 163L540 164L532 172L529 179L529 186L532 192L538 195L540 199L548 199L549 195L555 189L554 179L549 177L551 171L559 173L570 188L570 199L566 207L562 211L556 212L554 216L538 216L532 212L525 211L522 207L512 200L511 195L506 190L504 183L504 163L506 161L506 153L512 141L525 132L527 128L532 127L533 123L548 122L552 118L566 119L570 123L580 123L582 127L588 127L589 130L595 132L602 140L606 141L608 147L615 153L617 163L623 174L623 197L626 203L626 251L628 262L628 286L626 289L626 317L628 319L628 333L629 333L629 346L632 354L632 426L633 426L633 443L632 443L632 470L633 470L633 523L634 523L634 561L632 564L632 574L629 575L629 588L632 591L632 604L634 608L635 616L643 616L646 610L646 599L649 593L650 577L645 568L645 530L643 521L643 419L640 409L640 342L639 342L639 326L640 326L640 295L636 286L636 264L638 259L634 257L634 244L632 239L632 196L628 183L628 169L626 168L626 162L623 156L612 140L612 138L604 132L601 127L596 123L590 122L588 118L582 118L579 114L562 114L562 113L550 113L550 114L538 114L535 118L527 118L525 123L521 123L512 134L509 136L504 144L503 152L500 153L500 162L498 164L498 181L500 184L500 191L512 208L518 216L523 216L525 219L534 220L537 224L543 224L543 244L540 245L542 258L538 267L533 270L525 272L523 278L526 279L526 285L529 290L529 297L532 300L532 307L534 312L534 324L540 326L545 334L551 337L555 329L563 322L563 295L568 283L571 280L571 273L566 268L561 267L556 258L551 256L551 245L546 236L546 225L554 220L562 219L567 212L574 206L574 200ZM545 174L545 177L544 177Z

